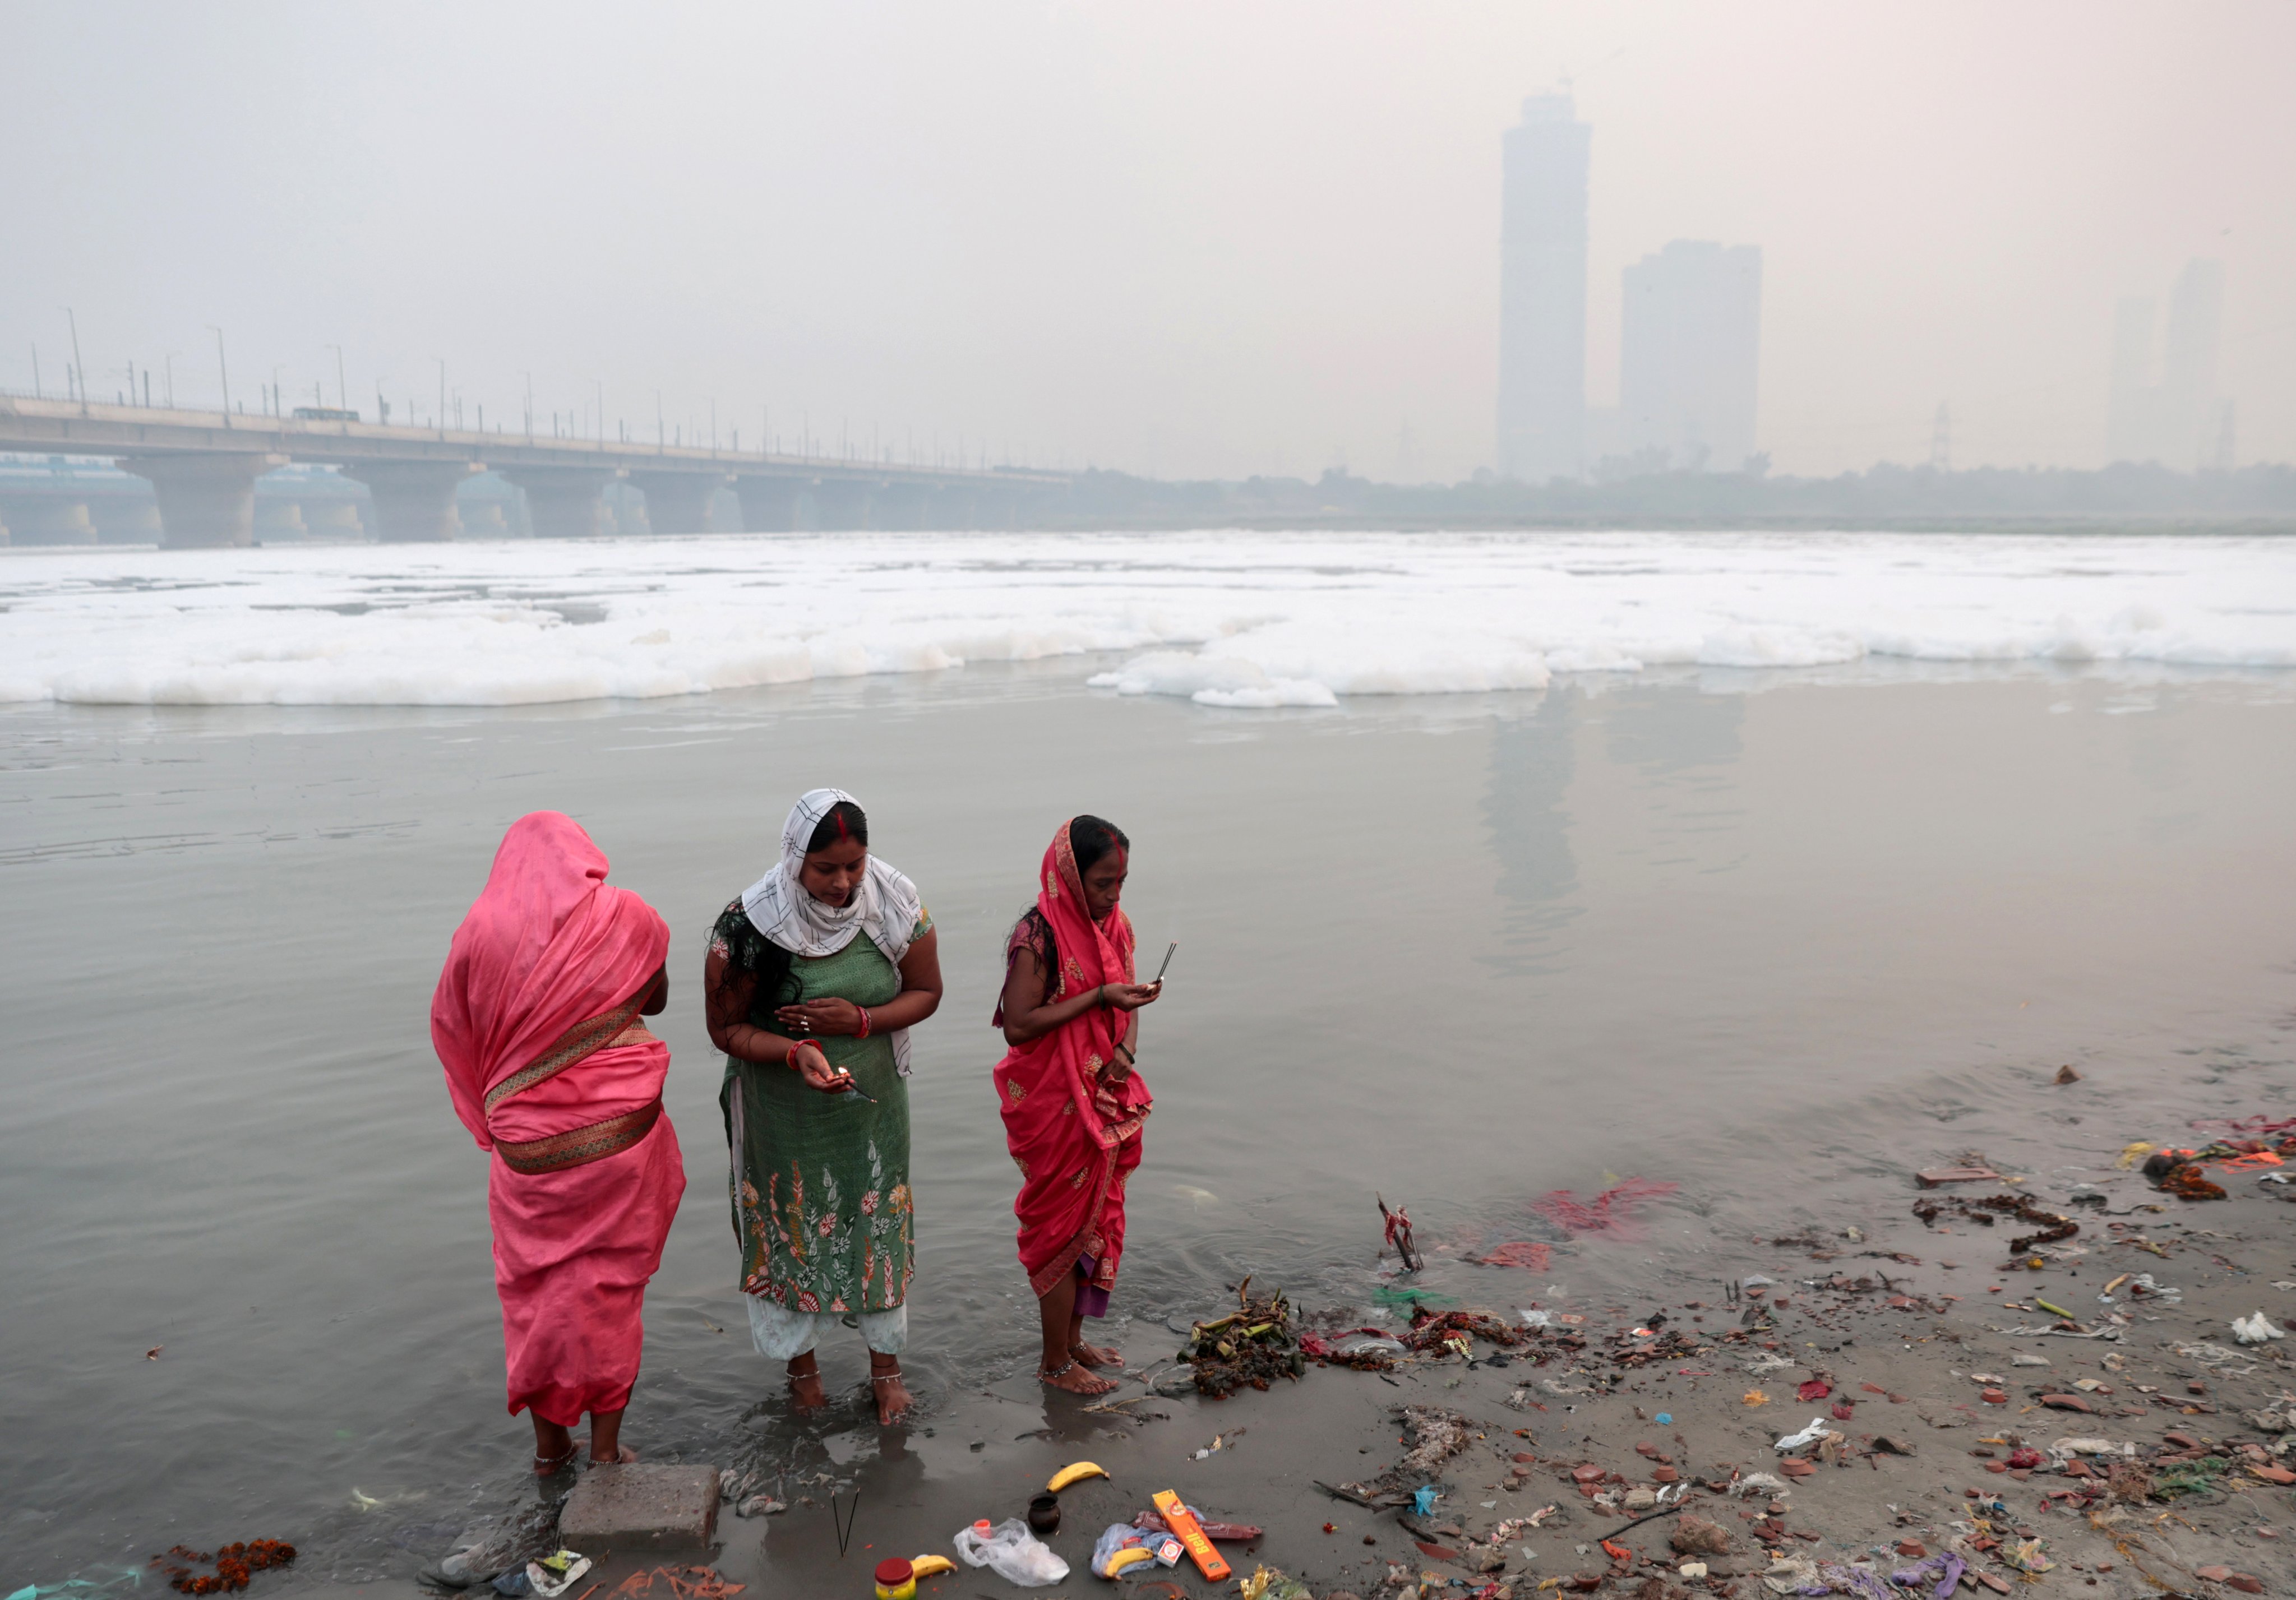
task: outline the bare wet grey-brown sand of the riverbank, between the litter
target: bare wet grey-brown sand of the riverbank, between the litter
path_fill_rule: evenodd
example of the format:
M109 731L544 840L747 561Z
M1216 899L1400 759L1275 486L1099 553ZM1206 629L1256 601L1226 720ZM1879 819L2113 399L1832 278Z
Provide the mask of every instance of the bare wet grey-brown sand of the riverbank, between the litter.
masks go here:
M2110 1088L2071 1093L2087 1109L2110 1100ZM1157 1396L1143 1384L1157 1375L1150 1368L1118 1391L1127 1414L1003 1382L951 1396L932 1426L893 1430L872 1460L785 1453L776 1442L732 1471L785 1494L790 1508L728 1515L707 1559L758 1595L866 1593L868 1570L886 1554L946 1554L955 1529L1019 1515L1063 1465L1095 1460L1111 1476L1070 1488L1063 1527L1047 1540L1075 1568L1054 1593L1093 1589L1084 1563L1097 1531L1130 1522L1162 1488L1208 1517L1265 1529L1249 1545L1221 1547L1238 1577L1265 1563L1318 1598L1504 1600L1557 1586L1756 1595L1773 1593L1766 1575L1793 1577L1784 1566L1793 1559L1816 1561L1821 1577L1851 1563L1887 1575L1945 1552L1968 1556L1965 1591L1991 1575L1988 1586L2007 1593L2018 1570L2000 1552L2027 1538L2041 1540L2048 1563L2037 1579L2057 1589L2239 1593L2220 1584L2229 1575L2262 1584L2248 1593L2289 1593L2296 1499L2285 1481L2296 1481L2287 1455L2296 1435L2250 1416L2285 1405L2287 1345L2243 1347L2229 1331L2259 1308L2296 1320L2296 1283L2278 1288L2285 1279L2275 1276L2296 1272L2296 1212L2280 1201L2289 1189L2243 1173L2227 1180L2229 1203L2195 1205L2112 1162L2078 1159L2007 1178L1945 1191L1908 1180L1903 1203L1862 1212L1862 1228L1809 1228L1706 1253L1706 1272L1770 1279L1743 1308L1681 1299L1685 1279L1699 1281L1685 1272L1658 1274L1649 1295L1626 1304L1596 1304L1603 1295L1543 1306L1584 1318L1561 1329L1577 1347L1545 1334L1520 1347L1476 1341L1474 1359L1403 1357L1387 1375L1311 1368L1297 1384L1231 1400ZM2103 1205L2066 1203L2076 1187L2101 1191ZM1924 1226L1913 1212L1919 1201L1945 1201L1952 1212L1956 1196L2000 1191L2076 1217L2080 1233L2041 1246L2043 1269L2009 1269L2011 1228ZM1853 1228L1860 1237L1846 1237ZM2172 1299L2131 1292L2133 1272L2151 1272ZM1518 1302L1536 1297L1531 1276L1437 1256L1410 1283L1515 1320ZM2119 1292L2101 1295L2110 1283ZM2041 1299L2080 1322L2039 1311ZM1651 1325L1662 1338L1667 1329L1681 1336L1665 1359L1646 1359L1653 1341L1635 1334ZM1807 1382L1830 1393L1798 1400ZM1837 1416L1844 1403L1851 1416ZM1472 1435L1437 1469L1407 1474L1440 1492L1426 1517L1366 1510L1318 1485L1373 1481L1391 1467L1410 1430L1398 1407L1440 1407ZM1805 1453L1814 1471L1786 1476L1775 1444L1809 1421L1841 1437L1823 1455ZM1199 1460L1215 1439L1224 1448ZM2197 1455L2206 1485L2183 1497L2117 1497L2105 1471L2119 1458L2080 1455L2082 1469L2066 1471L2071 1458L2050 1455L2064 1439L2126 1444L2156 1485ZM2020 1448L2039 1451L2043 1465L2014 1467ZM1587 1469L1603 1476L1582 1488ZM1784 1488L1745 1492L1754 1474ZM1683 1515L1717 1524L1727 1554L1671 1549L1676 1517L1628 1527L1653 1490L1683 1492ZM831 1497L852 1517L843 1554ZM1527 1517L1538 1527L1490 1538ZM1605 1538L1628 1556L1614 1559ZM604 1556L595 1577L608 1589L664 1563L645 1552L585 1554ZM1688 1559L1708 1572L1683 1579ZM1233 1591L1187 1566L1169 1577L1180 1593ZM1644 1589L1653 1577L1665 1589ZM1008 1591L1001 1579L962 1570L921 1586L928 1598L999 1591Z

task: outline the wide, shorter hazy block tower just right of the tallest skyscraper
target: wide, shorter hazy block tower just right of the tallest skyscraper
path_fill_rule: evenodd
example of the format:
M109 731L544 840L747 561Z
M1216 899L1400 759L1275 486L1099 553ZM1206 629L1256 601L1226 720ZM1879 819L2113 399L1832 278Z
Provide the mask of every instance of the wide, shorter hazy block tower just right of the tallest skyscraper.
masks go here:
M1761 250L1676 239L1626 269L1619 413L1630 455L1736 473L1754 455Z

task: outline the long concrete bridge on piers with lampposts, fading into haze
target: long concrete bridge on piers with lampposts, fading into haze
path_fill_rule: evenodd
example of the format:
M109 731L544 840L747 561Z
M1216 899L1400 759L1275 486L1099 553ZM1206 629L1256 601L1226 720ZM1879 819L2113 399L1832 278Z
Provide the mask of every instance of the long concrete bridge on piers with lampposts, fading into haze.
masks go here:
M273 418L232 411L87 404L0 395L0 450L106 457L152 482L161 544L200 549L255 542L255 480L289 461L326 464L374 496L386 542L455 537L455 489L494 471L526 491L540 537L599 530L606 484L645 496L654 533L703 533L709 503L732 489L751 533L797 526L810 498L822 528L1008 528L1029 498L1056 494L1068 473L939 468L634 445L602 438L457 427L393 427L351 415Z

